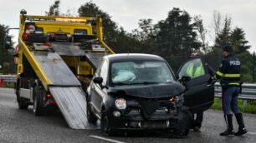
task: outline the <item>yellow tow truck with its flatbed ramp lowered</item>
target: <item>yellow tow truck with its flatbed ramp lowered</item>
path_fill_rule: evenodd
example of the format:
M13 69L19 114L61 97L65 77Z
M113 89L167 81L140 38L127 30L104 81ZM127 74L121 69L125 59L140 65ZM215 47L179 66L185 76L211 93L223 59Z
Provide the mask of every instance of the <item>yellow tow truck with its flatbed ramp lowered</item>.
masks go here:
M5 47L11 48L11 37ZM95 69L114 52L103 42L100 17L49 17L20 13L15 51L19 109L42 116L59 108L72 129L86 129L86 99ZM84 90L83 90L84 89Z

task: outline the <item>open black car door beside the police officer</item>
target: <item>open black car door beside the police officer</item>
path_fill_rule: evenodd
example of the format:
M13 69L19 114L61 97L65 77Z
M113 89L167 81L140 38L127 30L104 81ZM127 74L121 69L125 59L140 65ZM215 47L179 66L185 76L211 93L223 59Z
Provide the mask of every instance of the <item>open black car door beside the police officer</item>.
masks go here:
M184 105L195 112L206 111L214 102L214 86L209 86L211 76L207 64L201 58L192 58L182 64L178 76L190 76L191 80L185 83L187 91L184 94Z

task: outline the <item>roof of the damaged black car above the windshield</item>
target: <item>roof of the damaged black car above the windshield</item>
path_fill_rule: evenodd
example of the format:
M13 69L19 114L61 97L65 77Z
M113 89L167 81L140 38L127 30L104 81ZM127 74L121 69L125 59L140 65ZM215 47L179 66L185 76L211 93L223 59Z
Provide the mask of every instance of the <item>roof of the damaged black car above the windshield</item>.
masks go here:
M122 53L122 54L113 54L105 56L104 58L108 59L110 62L120 62L120 61L131 61L131 60L148 60L148 61L161 61L165 62L162 57L151 55L151 54L142 54L142 53Z

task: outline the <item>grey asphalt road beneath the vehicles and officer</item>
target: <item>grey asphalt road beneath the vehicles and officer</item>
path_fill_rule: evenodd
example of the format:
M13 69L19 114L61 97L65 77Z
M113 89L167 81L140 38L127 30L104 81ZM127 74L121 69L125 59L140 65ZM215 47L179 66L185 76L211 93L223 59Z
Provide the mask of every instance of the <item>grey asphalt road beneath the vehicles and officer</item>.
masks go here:
M170 136L166 132L136 132L127 136L110 137L99 129L69 129L64 117L33 116L32 106L19 110L13 89L0 88L0 143L8 142L256 142L256 116L244 114L248 134L219 136L225 130L221 111L206 111L201 132L190 131L185 138ZM237 123L233 121L237 130Z

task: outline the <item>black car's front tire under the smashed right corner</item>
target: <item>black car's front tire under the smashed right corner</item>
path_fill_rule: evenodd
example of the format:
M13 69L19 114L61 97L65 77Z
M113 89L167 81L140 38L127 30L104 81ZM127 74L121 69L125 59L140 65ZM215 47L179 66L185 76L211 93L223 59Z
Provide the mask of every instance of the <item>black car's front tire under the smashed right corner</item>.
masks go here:
M188 110L182 110L182 119L177 121L174 134L177 136L187 136L192 126L192 114Z

